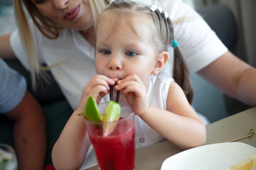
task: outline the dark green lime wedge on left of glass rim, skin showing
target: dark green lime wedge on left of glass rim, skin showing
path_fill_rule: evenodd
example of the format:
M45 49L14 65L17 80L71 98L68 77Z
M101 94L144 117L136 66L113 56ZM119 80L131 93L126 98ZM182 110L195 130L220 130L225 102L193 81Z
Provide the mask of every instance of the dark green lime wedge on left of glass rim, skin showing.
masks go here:
M95 99L90 96L85 105L85 118L94 122L102 122L102 115L97 108Z

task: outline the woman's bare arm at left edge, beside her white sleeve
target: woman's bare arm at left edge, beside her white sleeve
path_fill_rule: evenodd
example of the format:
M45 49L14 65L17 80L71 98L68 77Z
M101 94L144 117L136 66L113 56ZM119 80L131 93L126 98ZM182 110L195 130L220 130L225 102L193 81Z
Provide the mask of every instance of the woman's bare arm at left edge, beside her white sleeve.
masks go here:
M0 57L3 59L16 59L11 49L11 33L0 36Z

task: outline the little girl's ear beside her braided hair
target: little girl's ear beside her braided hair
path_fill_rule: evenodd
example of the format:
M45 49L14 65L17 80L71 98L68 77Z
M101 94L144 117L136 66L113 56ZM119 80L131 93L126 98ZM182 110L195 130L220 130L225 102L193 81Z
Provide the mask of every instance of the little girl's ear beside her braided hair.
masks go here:
M164 69L164 65L166 64L168 57L168 52L160 52L159 55L157 55L156 57L156 64L151 74L159 74L159 72L161 72L162 69Z

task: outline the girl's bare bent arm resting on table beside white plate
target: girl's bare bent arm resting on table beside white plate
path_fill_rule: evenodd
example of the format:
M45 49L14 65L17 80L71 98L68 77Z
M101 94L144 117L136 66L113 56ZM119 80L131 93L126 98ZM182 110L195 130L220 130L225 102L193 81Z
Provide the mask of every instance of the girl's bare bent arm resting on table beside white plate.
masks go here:
M169 87L167 111L149 106L140 117L181 149L206 144L206 126L176 83L171 83Z

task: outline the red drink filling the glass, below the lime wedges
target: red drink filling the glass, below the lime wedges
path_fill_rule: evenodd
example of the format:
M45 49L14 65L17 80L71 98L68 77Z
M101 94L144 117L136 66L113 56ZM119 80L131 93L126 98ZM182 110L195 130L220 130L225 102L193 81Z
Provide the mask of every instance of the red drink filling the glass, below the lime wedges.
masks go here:
M98 130L99 135L90 135L100 169L134 169L134 128L122 130L124 132L119 134L117 129L122 128L124 129L118 124L116 130L107 137L102 137L102 129Z

